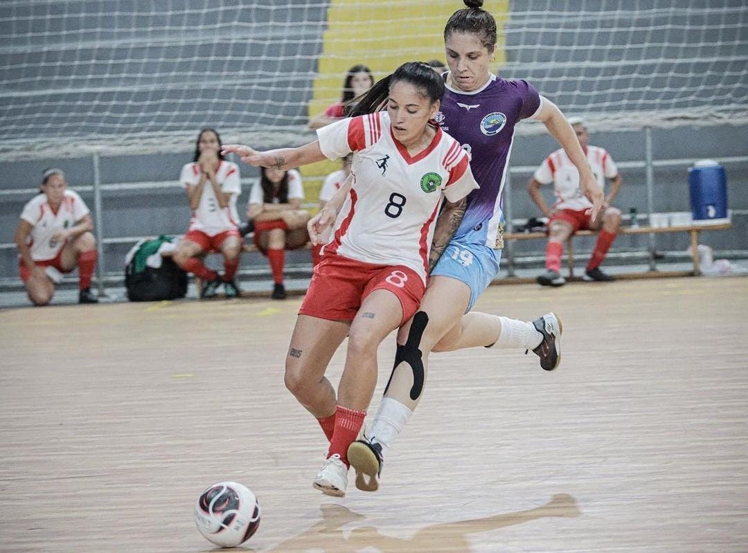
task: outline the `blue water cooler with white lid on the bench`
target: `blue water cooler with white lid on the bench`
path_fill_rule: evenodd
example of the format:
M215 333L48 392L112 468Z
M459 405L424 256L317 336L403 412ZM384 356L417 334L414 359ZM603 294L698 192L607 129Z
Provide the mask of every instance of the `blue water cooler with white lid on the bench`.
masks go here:
M727 176L725 168L717 161L696 161L688 169L688 188L691 196L693 222L726 223Z

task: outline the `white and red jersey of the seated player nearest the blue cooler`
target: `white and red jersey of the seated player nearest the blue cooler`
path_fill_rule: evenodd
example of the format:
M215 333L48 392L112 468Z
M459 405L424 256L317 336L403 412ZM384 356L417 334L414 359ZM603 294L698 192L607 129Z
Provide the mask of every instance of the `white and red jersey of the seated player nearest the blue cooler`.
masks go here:
M618 167L603 148L587 146L585 153L595 180L600 189L604 190L605 179L613 179L618 175ZM542 185L554 183L554 194L557 197L555 208L581 211L592 207L592 203L584 197L579 188L579 171L563 149L557 149L545 158L533 177Z

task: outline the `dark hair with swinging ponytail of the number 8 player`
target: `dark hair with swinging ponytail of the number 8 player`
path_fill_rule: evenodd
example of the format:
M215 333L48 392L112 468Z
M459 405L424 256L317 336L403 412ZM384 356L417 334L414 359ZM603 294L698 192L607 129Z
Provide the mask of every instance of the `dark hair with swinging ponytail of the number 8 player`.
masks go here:
M381 111L386 106L387 97L390 96L390 87L396 82L404 81L417 87L432 102L441 100L444 95L444 79L432 69L429 64L422 61L408 61L395 69L392 75L376 81L369 92L356 100L356 105L349 113L349 117L371 114Z

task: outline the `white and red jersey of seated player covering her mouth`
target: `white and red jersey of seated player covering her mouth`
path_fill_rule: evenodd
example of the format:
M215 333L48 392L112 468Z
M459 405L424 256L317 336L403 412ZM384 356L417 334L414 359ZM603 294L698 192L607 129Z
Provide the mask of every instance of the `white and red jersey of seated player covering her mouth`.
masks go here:
M206 180L203 186L203 195L197 209L192 210L192 218L189 221L189 230L199 230L206 235L215 236L227 230L236 230L239 222L239 214L236 212L236 198L242 194L242 184L239 181L239 166L231 161L221 160L215 179L221 185L221 191L231 194L229 205L221 208L218 198L215 197L213 186ZM187 185L195 186L200 182L200 164L188 163L182 167L180 182L185 188Z

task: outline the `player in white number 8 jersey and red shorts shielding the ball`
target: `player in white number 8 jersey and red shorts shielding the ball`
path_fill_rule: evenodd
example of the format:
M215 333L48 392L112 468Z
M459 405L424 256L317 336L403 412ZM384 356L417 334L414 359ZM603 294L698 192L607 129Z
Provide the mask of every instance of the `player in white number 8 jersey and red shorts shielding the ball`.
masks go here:
M348 198L314 270L286 356L286 386L330 439L314 481L328 495L346 491L346 452L374 392L377 347L413 315L423 296L432 238L442 232L435 225L444 197L442 216L477 188L465 150L431 123L444 93L441 77L426 64L404 64L356 109L373 111L379 102L370 99L383 91L387 111L325 126L306 146L270 152L224 147L249 164L281 169L353 152L352 184L343 189ZM346 336L336 395L324 375Z

